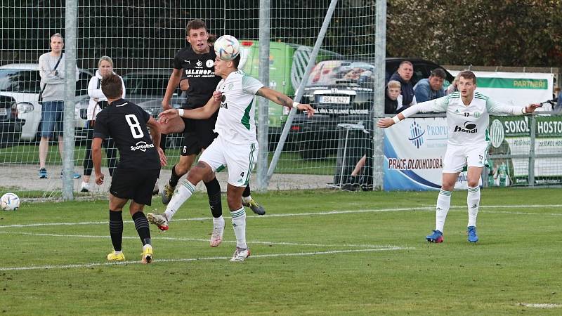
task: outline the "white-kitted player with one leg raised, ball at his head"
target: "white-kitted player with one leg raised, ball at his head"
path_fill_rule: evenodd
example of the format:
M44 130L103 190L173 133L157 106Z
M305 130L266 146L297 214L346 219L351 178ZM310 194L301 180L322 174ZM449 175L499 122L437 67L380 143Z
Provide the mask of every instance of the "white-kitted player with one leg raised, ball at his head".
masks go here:
M191 197L197 183L205 176L228 166L226 198L236 236L236 249L230 259L233 262L244 261L250 254L246 244L246 213L242 206L242 192L249 182L258 155L254 96L262 96L279 105L307 111L309 117L314 113L310 105L293 102L291 98L263 86L260 81L237 70L239 62L240 55L234 60L221 60L218 57L215 59L215 74L223 79L204 107L193 110L171 109L160 114L164 122L178 115L188 119L207 119L220 107L215 124L218 137L201 154L197 165L192 167L187 179L174 192L164 214L159 216L162 216L160 219L163 221L174 216L183 202ZM218 231L213 231L211 245L218 246L223 237L224 220L214 224Z

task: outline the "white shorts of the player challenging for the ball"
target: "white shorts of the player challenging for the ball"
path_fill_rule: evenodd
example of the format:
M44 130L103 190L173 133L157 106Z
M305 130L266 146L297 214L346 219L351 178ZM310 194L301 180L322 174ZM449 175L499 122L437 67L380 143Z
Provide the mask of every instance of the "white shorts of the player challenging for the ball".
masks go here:
M257 143L234 144L219 135L204 150L199 161L209 164L213 172L220 172L228 167L228 183L235 187L245 187L257 158Z

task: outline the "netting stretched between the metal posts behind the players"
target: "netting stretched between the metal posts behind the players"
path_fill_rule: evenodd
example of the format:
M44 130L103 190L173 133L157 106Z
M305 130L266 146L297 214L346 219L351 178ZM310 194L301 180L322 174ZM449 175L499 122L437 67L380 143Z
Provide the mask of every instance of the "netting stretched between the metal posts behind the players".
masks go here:
M79 69L74 99L65 107L73 107L74 142L60 143L72 151L75 176L72 190L81 195L81 183L88 169L91 126L87 108L91 96L88 84L98 71L98 60L112 58L113 70L124 79L126 98L156 116L168 83L176 52L188 45L185 25L200 18L207 22L211 34L232 34L242 45L241 67L252 77L259 77L259 39L263 32L260 8L268 12L269 79L271 88L294 97L306 72L308 59L325 23L330 4L334 5L327 20L325 37L313 60L311 76L303 83L306 103L314 103L318 119L296 113L287 142L269 179L270 188L326 187L334 180L336 156L341 127L346 122L368 121L368 107L374 95L375 1L234 1L204 0L141 1L77 1L75 25L70 48L68 36L72 1L39 1L39 3L4 1L1 7L3 24L0 49L0 114L2 121L0 187L25 191L28 196L60 196L63 187L63 159L58 151L58 133L48 142L45 154L46 178L41 173L41 92L39 56L51 51L51 35L60 33L66 40L65 56L74 53ZM263 14L263 13L262 13ZM263 18L263 17L262 17ZM71 51L71 49L74 49ZM67 60L67 57L65 57ZM70 62L70 60L67 60ZM60 72L64 70L60 69ZM330 88L327 88L329 86ZM335 90L334 90L335 89ZM360 91L358 96L349 91ZM181 91L172 103L179 106ZM360 95L360 96L359 96ZM70 102L70 103L69 103ZM68 110L67 110L68 111ZM259 110L258 110L259 111ZM280 139L289 111L274 103L268 105L268 161ZM61 114L63 115L63 114ZM256 114L256 118L258 115ZM63 130L63 126L58 126ZM90 133L90 134L89 134ZM65 137L72 138L72 137ZM166 139L169 166L178 161L180 135ZM103 166L107 174L104 152ZM263 160L259 164L269 162ZM162 170L160 185L169 178L169 166ZM219 175L219 179L221 175ZM87 176L86 176L86 180ZM108 183L109 181L106 181ZM254 181L255 183L255 181ZM93 177L89 192L98 195L107 187L96 187Z

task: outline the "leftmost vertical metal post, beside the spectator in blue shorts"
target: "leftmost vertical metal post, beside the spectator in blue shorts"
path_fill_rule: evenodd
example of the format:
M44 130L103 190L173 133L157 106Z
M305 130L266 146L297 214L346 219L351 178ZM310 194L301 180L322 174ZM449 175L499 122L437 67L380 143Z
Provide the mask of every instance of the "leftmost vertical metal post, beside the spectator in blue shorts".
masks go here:
M65 6L65 112L63 152L63 199L74 199L74 107L76 91L77 0L66 0Z

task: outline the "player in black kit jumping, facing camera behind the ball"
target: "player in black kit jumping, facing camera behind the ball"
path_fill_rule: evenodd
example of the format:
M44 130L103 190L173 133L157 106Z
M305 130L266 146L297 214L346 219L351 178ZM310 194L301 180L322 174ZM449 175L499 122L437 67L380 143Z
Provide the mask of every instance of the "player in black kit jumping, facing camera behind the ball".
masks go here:
M221 81L221 77L215 76L214 60L216 58L214 49L209 44L209 33L207 25L202 20L191 20L186 27L187 41L189 46L181 49L174 58L174 70L170 76L166 94L162 100L162 108L169 110L171 96L181 82L182 90L186 91L187 100L183 103L184 109L193 109L204 106ZM169 183L162 191L162 203L168 204L181 176L188 173L195 157L204 148L207 148L216 138L213 131L218 111L209 119L181 119L176 117L166 124L161 124L162 133L178 133L183 131L183 146L178 164L171 169ZM209 205L214 218L214 228L223 225L221 186L218 184L214 174L204 178L203 183L207 187ZM263 206L251 198L249 185L244 190L242 197L244 206L250 207L254 213L263 215L266 213ZM162 225L153 220L155 214L148 213L148 219L162 231L167 230L167 225ZM168 220L171 220L169 218ZM217 245L218 246L218 245Z

